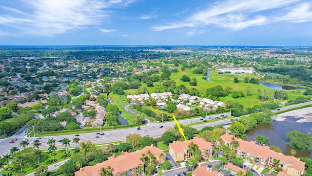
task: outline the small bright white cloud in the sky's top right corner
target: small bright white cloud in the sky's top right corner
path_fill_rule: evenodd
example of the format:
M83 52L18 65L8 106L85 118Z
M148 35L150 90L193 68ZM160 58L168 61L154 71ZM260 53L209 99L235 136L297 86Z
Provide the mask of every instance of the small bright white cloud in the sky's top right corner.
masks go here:
M301 3L291 11L281 17L277 18L279 21L287 22L308 22L312 21L312 4L311 3Z

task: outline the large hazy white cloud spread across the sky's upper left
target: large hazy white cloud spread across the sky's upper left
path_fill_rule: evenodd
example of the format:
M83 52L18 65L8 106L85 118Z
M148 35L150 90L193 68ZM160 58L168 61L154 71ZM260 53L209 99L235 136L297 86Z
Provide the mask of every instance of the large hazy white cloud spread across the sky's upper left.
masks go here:
M0 24L10 23L10 27L19 28L24 32L53 36L69 30L79 30L90 26L103 25L109 22L112 15L111 8L125 7L136 0L23 0L22 6L26 11L0 6L0 8L16 13L20 16L0 16ZM15 25L14 25L15 24ZM105 29L104 31L105 32ZM113 32L107 30L106 32Z

